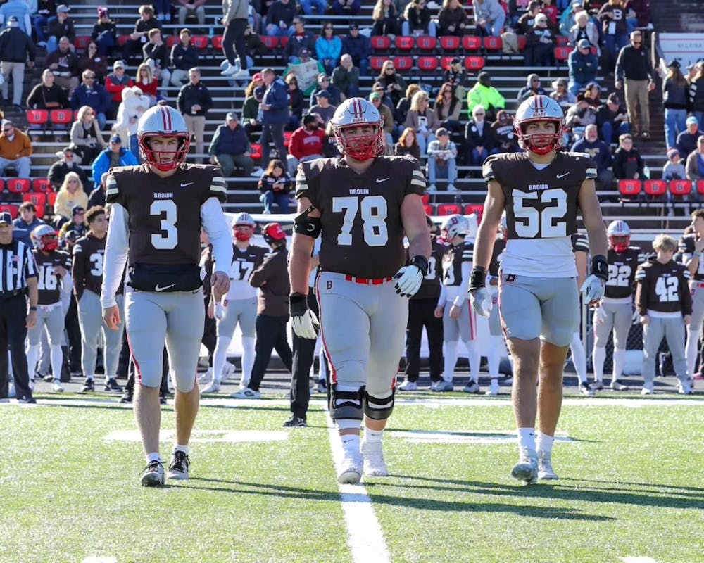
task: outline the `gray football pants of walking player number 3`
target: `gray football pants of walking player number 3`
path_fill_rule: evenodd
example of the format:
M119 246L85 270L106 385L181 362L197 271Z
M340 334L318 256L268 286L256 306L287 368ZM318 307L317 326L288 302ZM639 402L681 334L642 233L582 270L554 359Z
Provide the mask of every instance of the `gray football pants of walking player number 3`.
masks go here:
M174 384L190 393L196 384L203 338L203 289L196 291L128 291L125 327L139 384L159 387L164 341Z

